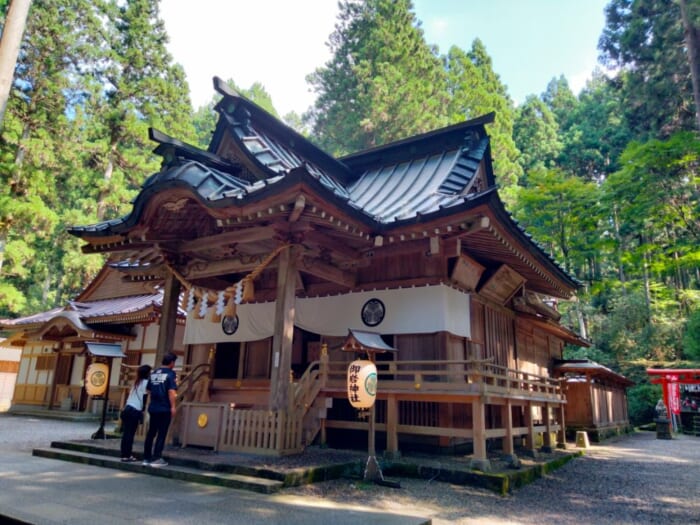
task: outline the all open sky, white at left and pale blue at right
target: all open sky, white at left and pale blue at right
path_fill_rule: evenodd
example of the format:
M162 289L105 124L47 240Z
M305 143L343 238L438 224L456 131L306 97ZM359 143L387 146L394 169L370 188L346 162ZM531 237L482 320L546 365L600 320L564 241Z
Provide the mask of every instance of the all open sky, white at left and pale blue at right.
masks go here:
M480 38L516 103L563 74L575 91L597 64L609 0L414 0L428 43L446 53ZM214 95L212 77L261 82L281 114L303 113L314 95L306 75L322 66L336 0L161 0L169 49L182 64L195 107Z

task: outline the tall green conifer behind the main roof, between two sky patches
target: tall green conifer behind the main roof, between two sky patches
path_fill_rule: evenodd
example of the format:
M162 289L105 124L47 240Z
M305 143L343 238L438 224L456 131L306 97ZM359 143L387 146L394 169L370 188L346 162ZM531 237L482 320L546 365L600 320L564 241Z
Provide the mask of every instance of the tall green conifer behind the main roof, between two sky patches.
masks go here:
M318 97L306 115L334 154L430 131L446 123L445 72L410 0L344 0L333 54L308 76Z

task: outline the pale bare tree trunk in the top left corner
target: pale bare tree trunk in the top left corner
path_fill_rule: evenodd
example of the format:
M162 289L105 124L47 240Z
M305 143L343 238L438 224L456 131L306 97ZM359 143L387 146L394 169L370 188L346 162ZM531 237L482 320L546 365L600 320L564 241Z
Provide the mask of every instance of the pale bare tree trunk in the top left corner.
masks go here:
M31 0L11 0L7 8L5 27L0 40L0 129L5 119L7 99L15 76L15 65L19 46L22 43L24 26L27 23L27 13Z

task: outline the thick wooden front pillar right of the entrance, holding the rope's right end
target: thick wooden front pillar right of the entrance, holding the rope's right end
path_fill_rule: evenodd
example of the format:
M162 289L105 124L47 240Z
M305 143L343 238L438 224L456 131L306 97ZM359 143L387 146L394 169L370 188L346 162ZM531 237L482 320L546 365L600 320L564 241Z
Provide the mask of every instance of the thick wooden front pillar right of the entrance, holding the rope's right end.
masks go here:
M270 410L286 410L289 404L289 371L292 369L296 271L296 249L282 250L277 269L275 332L272 338L272 371L270 373Z

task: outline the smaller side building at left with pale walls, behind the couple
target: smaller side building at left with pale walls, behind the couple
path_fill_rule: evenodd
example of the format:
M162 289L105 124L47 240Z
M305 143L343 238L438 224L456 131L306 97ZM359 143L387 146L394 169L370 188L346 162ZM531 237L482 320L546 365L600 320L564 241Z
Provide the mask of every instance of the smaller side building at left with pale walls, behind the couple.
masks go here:
M88 367L98 362L110 367L108 410L118 412L133 370L155 362L163 300L158 282L128 274L108 264L65 307L0 320L11 348L21 351L10 412L100 414L104 396L85 388ZM184 316L176 330L181 341ZM174 350L184 354L182 345Z

